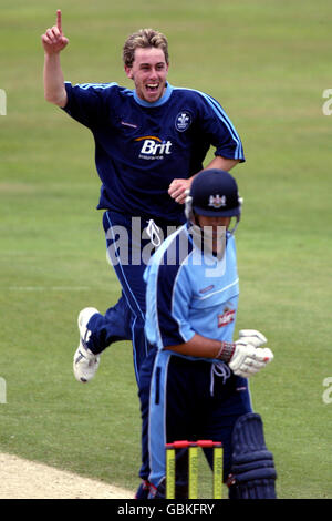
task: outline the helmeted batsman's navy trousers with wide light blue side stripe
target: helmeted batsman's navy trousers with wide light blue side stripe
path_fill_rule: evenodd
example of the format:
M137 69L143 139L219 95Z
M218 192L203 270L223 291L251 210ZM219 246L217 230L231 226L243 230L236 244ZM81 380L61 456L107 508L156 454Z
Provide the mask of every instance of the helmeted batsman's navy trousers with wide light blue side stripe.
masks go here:
M146 400L146 397L145 397ZM228 366L158 351L149 386L149 481L165 478L165 443L208 439L224 446L224 479L231 466L231 433L237 419L251 412L248 380ZM205 449L212 467L212 450ZM178 484L187 482L187 452L177 458Z

